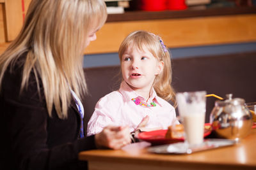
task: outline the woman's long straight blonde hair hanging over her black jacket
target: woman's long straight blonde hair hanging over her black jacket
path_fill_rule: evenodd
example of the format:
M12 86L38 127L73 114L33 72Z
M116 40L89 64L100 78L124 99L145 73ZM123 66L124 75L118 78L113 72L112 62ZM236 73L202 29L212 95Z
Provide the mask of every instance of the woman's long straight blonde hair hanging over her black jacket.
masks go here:
M106 22L103 0L32 0L22 30L0 56L0 87L4 72L27 53L22 73L22 89L29 74L42 80L47 111L54 106L58 117L67 118L70 88L81 98L86 92L83 50L88 31Z

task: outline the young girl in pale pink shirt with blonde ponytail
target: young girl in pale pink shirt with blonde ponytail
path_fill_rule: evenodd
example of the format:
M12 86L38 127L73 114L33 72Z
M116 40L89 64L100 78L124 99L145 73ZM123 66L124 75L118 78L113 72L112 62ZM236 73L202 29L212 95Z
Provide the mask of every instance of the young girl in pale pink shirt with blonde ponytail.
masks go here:
M175 121L170 54L163 40L135 31L119 48L123 81L120 89L102 97L88 123L88 136L106 125L127 125L130 132L167 129ZM141 129L143 127L143 129Z

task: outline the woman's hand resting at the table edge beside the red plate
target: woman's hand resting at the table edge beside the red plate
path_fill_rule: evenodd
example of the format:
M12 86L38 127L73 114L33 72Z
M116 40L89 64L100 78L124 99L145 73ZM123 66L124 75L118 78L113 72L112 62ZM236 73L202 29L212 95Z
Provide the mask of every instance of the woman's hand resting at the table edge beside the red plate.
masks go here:
M118 150L131 143L128 127L107 126L99 134L95 134L97 148L111 148Z

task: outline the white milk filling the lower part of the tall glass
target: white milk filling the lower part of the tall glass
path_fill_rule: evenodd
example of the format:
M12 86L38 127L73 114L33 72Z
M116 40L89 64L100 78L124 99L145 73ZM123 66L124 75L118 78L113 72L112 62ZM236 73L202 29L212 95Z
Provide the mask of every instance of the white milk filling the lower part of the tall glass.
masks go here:
M198 145L204 141L205 113L191 113L182 116L186 141L189 145Z

